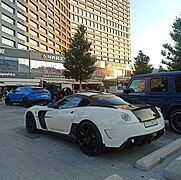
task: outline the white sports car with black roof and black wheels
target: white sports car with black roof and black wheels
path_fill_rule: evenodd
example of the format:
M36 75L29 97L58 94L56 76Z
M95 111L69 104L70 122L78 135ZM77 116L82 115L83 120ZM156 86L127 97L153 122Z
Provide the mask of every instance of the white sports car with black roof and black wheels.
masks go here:
M132 104L108 93L78 93L48 106L33 106L24 118L29 133L41 129L69 135L92 156L104 146L150 143L165 127L159 108Z

